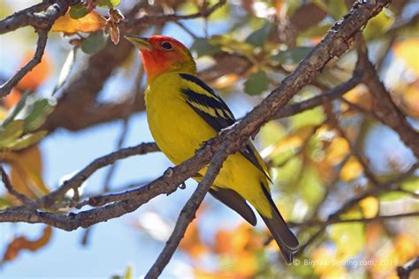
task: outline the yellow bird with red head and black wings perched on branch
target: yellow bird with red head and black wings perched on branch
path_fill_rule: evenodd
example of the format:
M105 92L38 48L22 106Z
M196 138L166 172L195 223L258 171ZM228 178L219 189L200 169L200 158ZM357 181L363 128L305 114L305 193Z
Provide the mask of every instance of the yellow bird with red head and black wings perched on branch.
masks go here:
M236 122L232 110L215 90L197 77L194 57L180 41L164 35L126 35L140 50L147 74L145 103L149 129L156 145L174 164L194 156L196 149ZM201 181L203 168L193 178ZM270 175L250 140L230 155L209 193L254 225L261 215L287 264L299 242L270 196Z

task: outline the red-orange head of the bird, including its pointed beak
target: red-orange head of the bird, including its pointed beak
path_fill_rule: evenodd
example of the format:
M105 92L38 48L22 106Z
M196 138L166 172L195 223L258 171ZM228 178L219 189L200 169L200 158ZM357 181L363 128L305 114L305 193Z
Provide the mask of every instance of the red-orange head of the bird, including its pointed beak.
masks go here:
M161 35L149 38L126 35L126 39L140 50L148 82L164 72L196 73L194 58L180 41Z

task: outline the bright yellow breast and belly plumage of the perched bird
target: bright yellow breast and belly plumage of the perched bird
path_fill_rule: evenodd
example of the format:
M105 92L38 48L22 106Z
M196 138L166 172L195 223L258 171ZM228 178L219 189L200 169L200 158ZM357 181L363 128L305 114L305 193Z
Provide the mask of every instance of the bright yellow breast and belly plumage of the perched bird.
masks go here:
M194 156L202 142L217 136L217 132L185 102L179 88L181 81L177 73L166 73L153 81L146 92L149 129L157 146L174 164ZM205 170L200 171L202 176ZM236 153L227 158L214 185L238 192L261 214L270 216L261 183L268 184L262 171Z

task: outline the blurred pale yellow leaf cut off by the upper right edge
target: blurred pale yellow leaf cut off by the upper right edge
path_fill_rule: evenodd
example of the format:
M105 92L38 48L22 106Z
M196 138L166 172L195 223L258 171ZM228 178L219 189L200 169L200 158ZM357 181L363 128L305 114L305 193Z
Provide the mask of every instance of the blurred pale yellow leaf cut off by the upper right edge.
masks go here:
M392 48L394 55L401 59L416 75L419 75L419 54L417 49L419 49L419 38L398 41Z

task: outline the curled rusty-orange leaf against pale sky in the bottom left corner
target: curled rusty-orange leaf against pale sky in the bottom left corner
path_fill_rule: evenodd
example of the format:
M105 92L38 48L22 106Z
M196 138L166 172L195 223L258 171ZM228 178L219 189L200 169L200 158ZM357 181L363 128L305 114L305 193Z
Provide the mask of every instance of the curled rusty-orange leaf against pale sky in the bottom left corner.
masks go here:
M15 260L21 250L36 251L50 242L52 230L51 227L47 226L43 229L41 238L36 240L28 240L26 237L15 238L11 241L11 244L7 247L4 253L3 260Z

